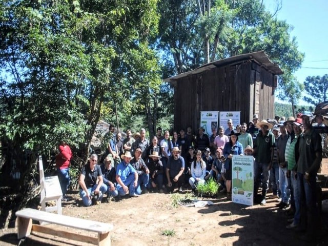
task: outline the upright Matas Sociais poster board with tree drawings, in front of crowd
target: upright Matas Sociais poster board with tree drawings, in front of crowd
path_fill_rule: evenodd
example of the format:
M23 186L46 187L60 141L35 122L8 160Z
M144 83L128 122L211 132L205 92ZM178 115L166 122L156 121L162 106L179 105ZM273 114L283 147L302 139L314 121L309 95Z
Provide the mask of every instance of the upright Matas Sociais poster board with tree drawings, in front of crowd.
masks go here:
M254 157L233 155L232 157L232 201L253 206Z

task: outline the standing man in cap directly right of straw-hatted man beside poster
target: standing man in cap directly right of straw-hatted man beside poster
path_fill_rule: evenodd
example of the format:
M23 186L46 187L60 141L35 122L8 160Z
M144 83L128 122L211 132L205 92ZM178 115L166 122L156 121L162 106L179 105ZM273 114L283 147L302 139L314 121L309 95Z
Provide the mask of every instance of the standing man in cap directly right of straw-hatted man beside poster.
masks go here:
M281 196L279 189L279 153L277 147L277 140L280 135L279 127L274 126L272 128L272 133L275 136L275 147L273 150L272 165L270 169L270 183L272 184L273 194L269 196L269 199L274 199Z

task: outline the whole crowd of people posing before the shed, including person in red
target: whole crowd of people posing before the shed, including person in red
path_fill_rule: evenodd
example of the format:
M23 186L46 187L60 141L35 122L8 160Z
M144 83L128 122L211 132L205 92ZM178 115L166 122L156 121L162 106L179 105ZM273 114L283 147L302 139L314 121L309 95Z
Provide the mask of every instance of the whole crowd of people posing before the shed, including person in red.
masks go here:
M145 129L134 135L127 130L124 140L117 133L108 143L103 163L96 165L98 156L92 154L83 167L80 196L85 206L90 206L100 201L103 194L138 197L150 191L182 191L188 186L195 190L198 183L212 177L231 200L232 158L253 155L254 199L265 205L267 198L277 198L277 206L294 216L287 228L304 229L304 239L311 239L318 218L316 176L322 158L321 137L312 127L312 117L303 114L296 119L259 121L258 115L254 115L249 124L243 122L236 127L229 119L227 129L220 127L217 132L213 128L210 136L202 127L195 136L188 127L187 131L173 131L171 138L169 131L162 135L161 128L157 128L151 142ZM321 118L315 119L318 117ZM114 132L114 126L110 131ZM64 165L57 166L60 180L66 180L61 182L63 194L69 183L66 164L72 158L65 146L59 148L58 155ZM269 189L273 194L267 197Z

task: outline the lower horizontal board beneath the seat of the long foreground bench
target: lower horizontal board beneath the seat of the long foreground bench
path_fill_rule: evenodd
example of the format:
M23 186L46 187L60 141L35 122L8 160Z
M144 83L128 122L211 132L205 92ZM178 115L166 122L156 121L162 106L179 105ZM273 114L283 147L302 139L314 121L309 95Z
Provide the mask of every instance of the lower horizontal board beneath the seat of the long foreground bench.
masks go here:
M63 237L63 238L80 241L80 242L88 242L88 243L92 243L95 245L98 244L98 238L81 235L78 233L68 232L68 231L62 231L62 230L58 230L58 229L52 229L50 227L39 226L38 224L33 224L32 233L33 232L46 233L46 234L54 235L57 237ZM106 235L108 235L108 234L106 234Z

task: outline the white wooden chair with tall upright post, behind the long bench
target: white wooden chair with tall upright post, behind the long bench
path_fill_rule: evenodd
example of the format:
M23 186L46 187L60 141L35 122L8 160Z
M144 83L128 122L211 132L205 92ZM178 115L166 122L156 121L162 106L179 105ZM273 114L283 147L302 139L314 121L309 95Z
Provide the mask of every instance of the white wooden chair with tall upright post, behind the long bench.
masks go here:
M45 177L43 170L42 156L39 156L39 172L40 172L40 203L41 210L45 212L57 211L61 214L61 192L58 176ZM46 207L47 201L54 201L55 206Z

